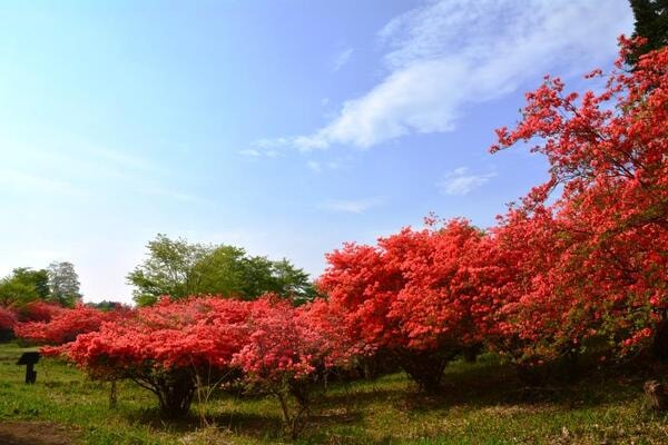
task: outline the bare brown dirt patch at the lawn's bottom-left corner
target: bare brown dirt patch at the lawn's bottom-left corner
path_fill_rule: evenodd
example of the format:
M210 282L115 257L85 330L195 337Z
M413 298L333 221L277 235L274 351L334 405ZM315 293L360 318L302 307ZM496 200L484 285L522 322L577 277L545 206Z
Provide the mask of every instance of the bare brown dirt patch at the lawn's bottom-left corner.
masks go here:
M0 421L2 445L73 445L80 438L62 425L47 422Z

